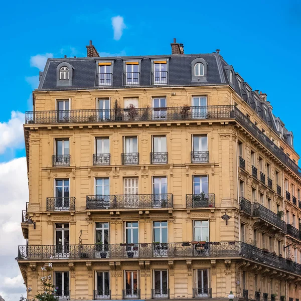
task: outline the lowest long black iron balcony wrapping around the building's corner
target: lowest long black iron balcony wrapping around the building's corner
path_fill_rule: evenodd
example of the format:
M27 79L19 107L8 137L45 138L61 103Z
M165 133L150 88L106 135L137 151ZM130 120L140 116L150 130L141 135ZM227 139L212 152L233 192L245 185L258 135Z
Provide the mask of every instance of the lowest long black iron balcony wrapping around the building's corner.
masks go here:
M105 253L105 254L103 254ZM140 244L108 244L100 251L95 244L90 245L29 245L19 246L18 260L70 260L97 259L108 261L113 259L142 260L143 258L208 258L235 257L247 258L258 263L267 264L295 274L301 274L301 264L265 252L244 242L207 242L205 244L183 243L140 243Z

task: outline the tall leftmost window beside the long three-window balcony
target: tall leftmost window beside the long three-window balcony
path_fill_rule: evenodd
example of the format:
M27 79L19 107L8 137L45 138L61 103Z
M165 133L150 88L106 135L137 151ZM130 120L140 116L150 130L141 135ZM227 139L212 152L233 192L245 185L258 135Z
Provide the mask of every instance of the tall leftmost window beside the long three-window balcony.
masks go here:
M69 179L55 180L55 210L70 210Z

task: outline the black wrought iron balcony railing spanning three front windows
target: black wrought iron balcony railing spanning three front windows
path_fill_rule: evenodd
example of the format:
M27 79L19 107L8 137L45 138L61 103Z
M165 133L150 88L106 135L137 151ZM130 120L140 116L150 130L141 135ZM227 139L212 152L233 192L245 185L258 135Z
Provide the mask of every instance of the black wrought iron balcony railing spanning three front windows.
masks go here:
M173 194L87 196L87 209L173 208Z

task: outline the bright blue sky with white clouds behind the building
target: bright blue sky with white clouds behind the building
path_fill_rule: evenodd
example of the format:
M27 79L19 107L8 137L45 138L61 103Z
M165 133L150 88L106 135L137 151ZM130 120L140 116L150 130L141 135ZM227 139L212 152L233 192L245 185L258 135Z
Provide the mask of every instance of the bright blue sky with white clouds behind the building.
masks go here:
M120 16L114 19L119 32L114 32L112 26L112 18L116 16ZM6 249L10 250L11 246L12 250L7 255L0 254L0 294L6 300L13 300L20 296L20 291L24 293L23 280L11 252L15 250L17 255L15 244L22 240L19 208L25 209L28 199L27 176L24 158L14 159L25 156L23 113L31 109L32 89L37 85L47 56L85 56L89 40L93 40L102 55L170 54L173 38L184 44L185 53L211 53L221 49L224 59L253 90L267 93L274 114L293 131L295 149L301 153L300 30L298 0L115 1L95 5L78 0L51 3L17 0L3 4L0 10L0 190L5 189L0 191L0 200L10 199L10 204L2 201L0 218L5 226L0 233ZM9 188L15 175L20 178L20 196L12 194L16 190L13 186ZM13 233L18 233L18 239ZM14 241L10 242L11 237Z

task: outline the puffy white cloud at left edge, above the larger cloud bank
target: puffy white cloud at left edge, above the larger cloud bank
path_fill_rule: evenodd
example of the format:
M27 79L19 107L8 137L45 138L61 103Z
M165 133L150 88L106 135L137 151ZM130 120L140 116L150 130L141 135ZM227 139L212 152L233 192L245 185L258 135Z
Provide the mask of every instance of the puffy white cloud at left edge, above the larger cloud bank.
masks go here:
M8 122L0 122L0 154L4 154L10 148L24 147L24 122L25 114L18 111L12 111Z

